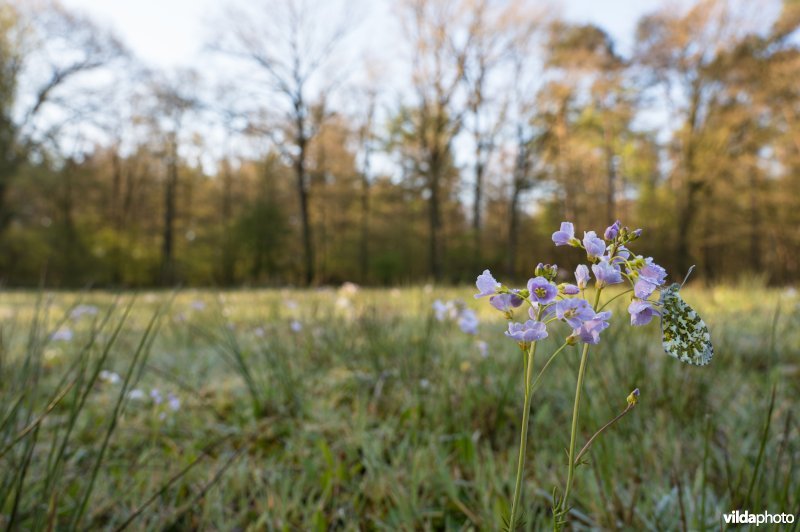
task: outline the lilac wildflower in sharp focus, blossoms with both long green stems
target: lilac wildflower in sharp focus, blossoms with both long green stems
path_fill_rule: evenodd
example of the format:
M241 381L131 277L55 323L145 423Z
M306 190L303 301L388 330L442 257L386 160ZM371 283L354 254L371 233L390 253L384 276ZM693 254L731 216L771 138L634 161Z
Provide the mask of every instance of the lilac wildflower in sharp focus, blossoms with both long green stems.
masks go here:
M636 404L638 389L628 396L628 407L614 419L603 425L581 448L577 450L578 427L580 425L581 395L589 361L589 346L600 343L601 333L609 327L612 312L604 310L617 298L633 292L632 301L628 305L630 323L634 326L646 325L654 316L660 316L658 303L650 297L655 290L663 295L666 277L664 268L655 264L650 257L633 255L627 248L631 242L638 240L641 230L631 231L623 227L619 221L598 236L595 231L584 231L583 239L575 236L575 228L570 222L563 222L561 228L553 233L552 240L556 246L568 246L583 250L589 265L580 264L575 270L575 282L559 282L558 267L551 264L539 264L534 270L534 277L528 280L525 288L511 288L498 282L489 270L478 276L475 285L478 288L476 298L488 297L489 303L501 311L508 320L505 335L515 340L523 353L523 373L525 376L525 400L520 427L520 445L517 456L517 474L514 482L514 495L511 501L511 512L507 522L509 529L518 526L522 514L522 478L525 471L525 458L530 425L530 409L533 393L540 383L545 371L556 356L568 345L583 343L575 398L572 407L572 421L569 437L569 462L567 479L563 496L554 497L554 528L561 530L566 524L569 512L569 497L575 482L575 469L581 458L588 452L593 442L609 427L626 415ZM595 278L594 304L590 305L586 298L586 289L592 277ZM611 297L600 306L600 297L607 286L629 282L631 288ZM677 285L675 285L677 286ZM675 289L677 290L677 289ZM526 308L519 309L524 303ZM519 309L519 310L517 310ZM527 312L526 312L527 311ZM515 316L524 313L526 316ZM529 318L529 319L528 319ZM556 349L542 366L535 380L533 379L533 362L536 345L539 340L547 338L548 328L562 323L571 329L558 349Z

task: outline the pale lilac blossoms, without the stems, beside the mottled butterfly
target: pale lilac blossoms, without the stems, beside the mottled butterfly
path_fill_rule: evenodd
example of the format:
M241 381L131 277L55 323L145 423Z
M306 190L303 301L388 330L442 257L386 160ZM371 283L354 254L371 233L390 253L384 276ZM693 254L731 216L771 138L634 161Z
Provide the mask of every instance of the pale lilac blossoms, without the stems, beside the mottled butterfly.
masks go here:
M478 276L476 298L489 297L493 307L505 313L509 320L506 336L527 344L547 337L547 327L554 321L567 324L572 334L571 344L583 342L597 344L600 333L608 328L610 311L601 311L589 304L585 289L594 276L595 287L602 289L628 281L634 298L628 307L632 325L645 325L658 315L650 295L664 284L666 271L652 258L633 255L628 245L641 236L641 229L630 230L619 221L614 222L598 236L595 231L585 231L583 238L575 236L571 222L563 222L553 233L556 246L571 246L586 252L587 264L575 270L574 283L556 284L558 267L539 264L534 277L524 289L509 288L498 282L489 270ZM527 317L514 322L514 311L527 303Z

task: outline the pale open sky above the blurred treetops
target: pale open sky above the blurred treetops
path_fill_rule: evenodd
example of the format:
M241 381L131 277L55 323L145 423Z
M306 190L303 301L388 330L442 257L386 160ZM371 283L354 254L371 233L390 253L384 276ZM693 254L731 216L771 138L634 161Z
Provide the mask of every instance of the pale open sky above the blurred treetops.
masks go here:
M392 25L388 9L391 1L372 2L371 16L382 19L373 21L379 22L377 26ZM62 3L83 11L101 25L110 26L139 58L161 68L197 65L213 21L225 6L222 0L62 0ZM567 20L592 22L604 28L623 53L633 42L637 19L663 4L659 0L556 0L556 3Z

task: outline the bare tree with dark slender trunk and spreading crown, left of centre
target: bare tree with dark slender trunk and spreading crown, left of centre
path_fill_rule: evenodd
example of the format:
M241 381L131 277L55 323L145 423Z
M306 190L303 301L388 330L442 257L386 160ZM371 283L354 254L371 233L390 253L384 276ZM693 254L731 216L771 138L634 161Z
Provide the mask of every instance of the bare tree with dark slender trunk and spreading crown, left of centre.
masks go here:
M308 147L326 118L324 112L313 111L325 109L324 102L342 81L326 67L348 28L347 14L333 12L335 6L326 9L308 0L252 2L229 11L226 30L214 45L255 67L248 81L265 87L267 105L281 109L266 127L254 127L270 137L294 168L306 284L315 280Z

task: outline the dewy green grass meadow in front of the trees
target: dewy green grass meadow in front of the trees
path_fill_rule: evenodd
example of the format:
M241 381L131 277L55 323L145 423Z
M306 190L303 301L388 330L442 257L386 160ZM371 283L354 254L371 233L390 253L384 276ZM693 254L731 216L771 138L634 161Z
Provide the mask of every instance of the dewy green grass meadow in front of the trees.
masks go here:
M473 292L4 292L0 526L499 529L522 355ZM437 298L476 309L478 335L434 319ZM707 367L668 358L657 323L631 328L626 298L612 304L579 443L641 397L577 471L575 530L719 530L736 508L800 511L800 298L745 285L685 298L711 329ZM70 317L77 304L99 312ZM537 369L567 334L554 332ZM530 530L551 526L564 482L578 349L533 398Z

